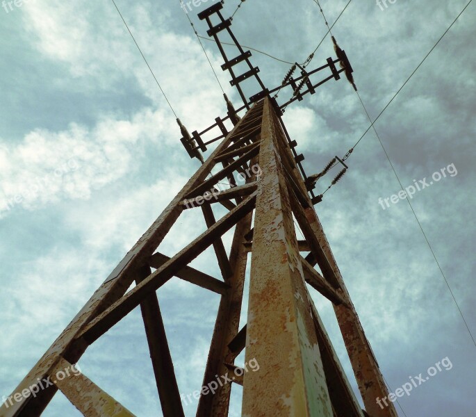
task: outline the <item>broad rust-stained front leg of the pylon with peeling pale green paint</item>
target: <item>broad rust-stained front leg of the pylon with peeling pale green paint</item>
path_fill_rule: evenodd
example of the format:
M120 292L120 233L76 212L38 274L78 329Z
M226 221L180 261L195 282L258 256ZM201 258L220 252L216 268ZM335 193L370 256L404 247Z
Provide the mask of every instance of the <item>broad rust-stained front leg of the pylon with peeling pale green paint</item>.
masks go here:
M260 368L245 373L243 417L331 417L272 112L265 99L245 353Z

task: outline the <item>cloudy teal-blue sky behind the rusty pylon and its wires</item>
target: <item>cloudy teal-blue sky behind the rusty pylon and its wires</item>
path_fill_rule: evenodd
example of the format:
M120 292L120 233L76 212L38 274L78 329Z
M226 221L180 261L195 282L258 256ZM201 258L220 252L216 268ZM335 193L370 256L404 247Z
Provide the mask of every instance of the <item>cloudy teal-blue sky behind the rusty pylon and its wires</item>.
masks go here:
M179 1L116 3L188 130L225 115L222 90ZM197 13L211 0L195 3L188 15L206 35ZM224 16L239 3L226 0ZM321 1L329 23L346 3ZM350 3L333 34L372 120L466 3ZM174 113L112 1L17 4L0 8L0 397L13 392L199 167L181 146ZM375 124L402 186L425 183L411 204L445 277L408 202L392 199L400 185L373 131L347 160L345 177L315 206L391 391L447 364L398 399L399 416L470 417L476 409L476 345L454 302L476 335L475 22L471 3ZM290 63L304 62L326 33L312 0L248 0L232 29L241 44ZM218 48L203 42L225 92L240 106ZM279 85L290 65L252 54L265 85ZM309 68L329 56L326 38ZM289 106L284 122L308 174L345 155L369 125L345 79ZM337 169L318 181L317 193ZM445 175L435 174L443 169ZM192 214L180 218L161 251L181 250L203 224ZM192 265L219 276L213 252ZM359 397L331 305L311 293ZM218 296L172 279L158 299L179 389L192 393L202 384ZM79 366L134 414L161 416L138 309L99 338ZM233 386L230 416L240 415L240 393ZM186 416L196 406L184 406ZM79 415L61 393L44 412Z

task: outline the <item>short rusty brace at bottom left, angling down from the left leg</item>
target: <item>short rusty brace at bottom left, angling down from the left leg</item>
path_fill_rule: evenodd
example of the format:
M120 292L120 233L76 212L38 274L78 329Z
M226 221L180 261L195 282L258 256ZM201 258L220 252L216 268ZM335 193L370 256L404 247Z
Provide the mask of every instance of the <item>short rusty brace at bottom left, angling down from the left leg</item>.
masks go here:
M53 370L53 375L64 369L69 369L71 366L71 363L65 359L60 359ZM83 416L134 417L131 411L83 374L69 376L61 381L56 380L55 384L74 407L81 411Z

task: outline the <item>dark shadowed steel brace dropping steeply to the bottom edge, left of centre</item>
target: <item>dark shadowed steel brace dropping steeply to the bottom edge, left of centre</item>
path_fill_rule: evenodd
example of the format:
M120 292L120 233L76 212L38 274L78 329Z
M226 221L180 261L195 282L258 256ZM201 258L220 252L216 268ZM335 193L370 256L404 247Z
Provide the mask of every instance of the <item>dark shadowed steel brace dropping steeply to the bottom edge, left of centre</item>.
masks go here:
M151 270L147 266L138 273L136 282L140 284L150 275ZM174 363L170 355L169 343L167 342L156 293L151 293L140 303L140 311L142 320L144 320L145 334L149 345L152 368L154 368L154 376L156 377L158 396L161 400L163 417L184 417Z

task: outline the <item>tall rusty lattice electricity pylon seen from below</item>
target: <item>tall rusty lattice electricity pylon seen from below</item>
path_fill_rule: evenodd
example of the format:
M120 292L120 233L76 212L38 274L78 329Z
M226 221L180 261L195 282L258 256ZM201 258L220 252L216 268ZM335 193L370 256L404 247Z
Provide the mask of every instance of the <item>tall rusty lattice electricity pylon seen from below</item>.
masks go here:
M202 17L210 22L209 17L218 13L220 6L218 3L207 9ZM229 29L227 24L213 27L217 31ZM243 53L246 56L241 61L249 57ZM325 67L336 78L334 60L329 60ZM232 61L226 60L225 69L240 62ZM252 75L256 76L256 70ZM304 83L312 88L309 74L303 76ZM240 83L246 78L236 79ZM240 95L245 97L243 91ZM384 408L377 405L377 398L388 398L388 391L313 208L309 181L299 165L302 158L295 153L296 143L290 140L281 120L281 106L270 97L269 90L244 102L246 113L241 118L228 103L228 116L218 118L213 125L222 131L220 145L26 375L14 395L31 391L45 379L53 380L58 371L79 361L88 346L140 307L163 415L184 416L156 296L161 286L177 277L220 295L203 386L210 386L217 375L228 375L231 370L243 375L220 384L213 393L202 390L198 417L227 416L233 384L243 385L243 416L247 417L397 416L392 402ZM233 122L231 131L227 131L224 120ZM208 145L202 140L204 132L190 135L179 124L183 145L190 156L198 156ZM238 174L245 179L243 185L236 183ZM224 190L218 186L223 180L230 184ZM227 213L216 218L216 206L224 206ZM165 256L160 252L161 243L188 210L202 211L206 229L200 234L197 230L197 237L174 256ZM305 240L297 240L295 221ZM227 251L222 236L232 229L233 241ZM222 279L188 265L208 247L213 247ZM240 329L249 252L247 324ZM334 306L365 411L350 387L308 286ZM259 370L245 372L235 365L243 350L245 363L254 359ZM133 416L86 375L71 375L42 388L34 396L14 396L5 402L0 416L38 416L58 390L84 416Z

